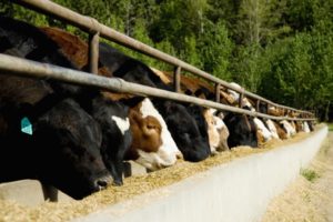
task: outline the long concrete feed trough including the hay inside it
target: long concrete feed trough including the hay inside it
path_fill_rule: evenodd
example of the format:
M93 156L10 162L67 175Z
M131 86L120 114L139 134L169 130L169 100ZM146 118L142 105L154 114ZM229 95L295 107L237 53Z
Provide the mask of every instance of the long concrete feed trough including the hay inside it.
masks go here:
M81 201L61 193L59 203L44 202L37 181L1 183L0 221L260 221L269 201L309 164L326 134L327 127L319 127L274 148L238 148L152 173L135 172L131 164L133 176L123 186Z

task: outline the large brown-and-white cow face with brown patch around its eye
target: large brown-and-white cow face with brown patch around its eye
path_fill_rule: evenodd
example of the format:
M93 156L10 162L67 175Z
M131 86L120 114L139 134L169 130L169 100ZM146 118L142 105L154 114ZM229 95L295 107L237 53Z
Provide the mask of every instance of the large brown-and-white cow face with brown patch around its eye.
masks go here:
M181 155L167 123L150 99L143 99L130 110L133 142L129 159L154 171L173 165Z

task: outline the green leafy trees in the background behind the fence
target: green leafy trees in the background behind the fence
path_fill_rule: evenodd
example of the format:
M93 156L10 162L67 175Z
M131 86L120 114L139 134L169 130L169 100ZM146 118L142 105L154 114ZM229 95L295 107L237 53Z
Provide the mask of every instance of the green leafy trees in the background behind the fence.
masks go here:
M333 0L53 1L274 102L333 121ZM8 0L0 0L0 13L87 38L78 28Z

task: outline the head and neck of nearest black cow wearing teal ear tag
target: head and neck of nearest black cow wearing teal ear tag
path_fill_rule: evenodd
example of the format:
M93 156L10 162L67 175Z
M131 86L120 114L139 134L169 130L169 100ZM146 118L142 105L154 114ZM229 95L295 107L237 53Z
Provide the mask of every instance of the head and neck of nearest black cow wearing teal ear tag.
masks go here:
M19 102L20 95L12 101L0 94L0 119L6 120L0 182L37 179L77 200L105 188L111 175L100 153L99 124L72 99L50 107L49 95L30 105Z

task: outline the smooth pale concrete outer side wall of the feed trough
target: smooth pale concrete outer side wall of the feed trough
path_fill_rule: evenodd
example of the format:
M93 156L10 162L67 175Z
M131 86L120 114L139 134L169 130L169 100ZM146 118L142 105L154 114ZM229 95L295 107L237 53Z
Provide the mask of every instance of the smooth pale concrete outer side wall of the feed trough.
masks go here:
M319 151L327 128L284 148L253 154L73 221L260 221L272 198Z

